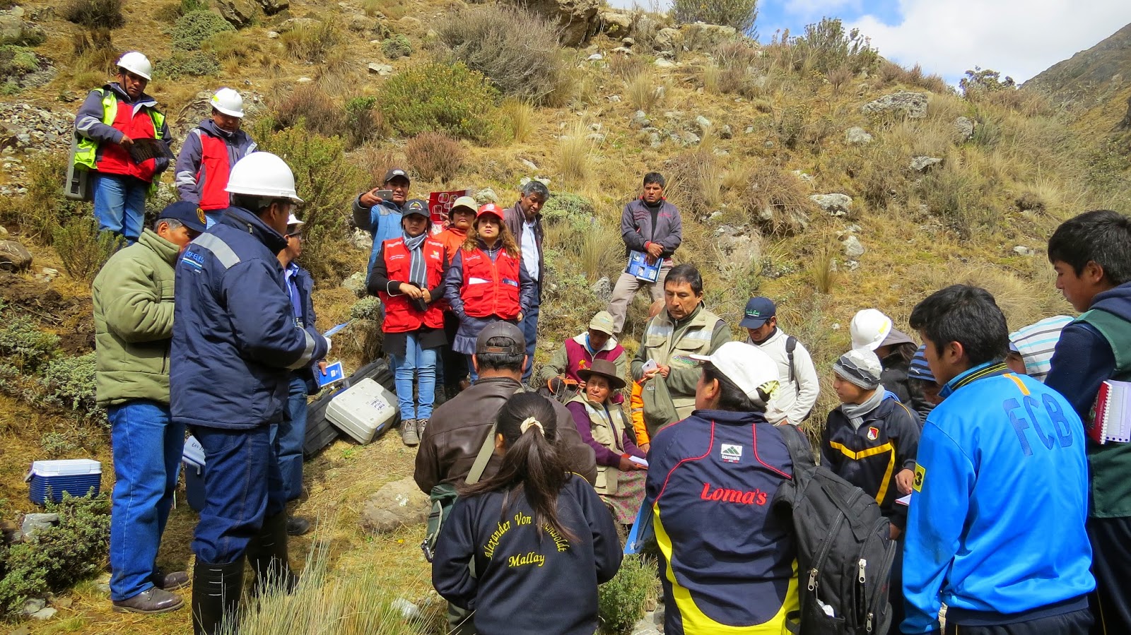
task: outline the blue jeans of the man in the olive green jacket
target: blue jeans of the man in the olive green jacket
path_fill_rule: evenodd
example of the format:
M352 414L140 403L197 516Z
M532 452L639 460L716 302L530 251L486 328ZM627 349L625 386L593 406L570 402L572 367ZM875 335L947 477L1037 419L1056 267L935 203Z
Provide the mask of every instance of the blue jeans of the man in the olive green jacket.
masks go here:
M107 410L114 454L110 516L110 598L128 600L153 586L157 548L173 505L184 426L169 406L139 399Z

